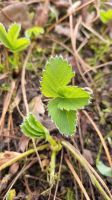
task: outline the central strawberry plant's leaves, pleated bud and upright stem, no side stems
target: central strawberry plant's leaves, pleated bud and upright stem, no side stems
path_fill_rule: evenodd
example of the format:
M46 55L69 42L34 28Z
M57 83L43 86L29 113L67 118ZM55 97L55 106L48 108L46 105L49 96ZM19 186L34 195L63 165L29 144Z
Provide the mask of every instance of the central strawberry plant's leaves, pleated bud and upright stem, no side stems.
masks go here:
M68 86L74 73L72 67L62 57L50 58L43 72L41 91L52 100L48 103L48 112L61 133L70 136L75 133L77 110L90 101L90 93L77 86ZM22 132L30 138L42 138L51 145L50 185L54 183L56 154L61 143L55 141L48 130L29 114L21 125Z

